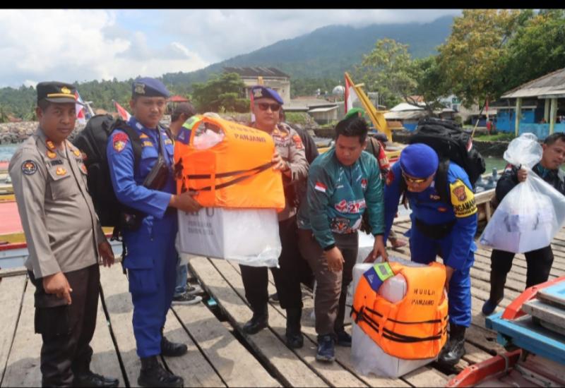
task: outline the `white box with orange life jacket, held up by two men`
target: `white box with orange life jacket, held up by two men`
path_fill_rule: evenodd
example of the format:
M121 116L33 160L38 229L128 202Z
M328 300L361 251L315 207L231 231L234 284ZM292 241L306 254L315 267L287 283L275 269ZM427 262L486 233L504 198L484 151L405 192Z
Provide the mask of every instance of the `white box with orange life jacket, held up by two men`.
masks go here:
M263 131L197 116L174 145L177 193L196 192L203 209L179 212L184 253L275 267L281 246L277 212L285 207L273 139Z

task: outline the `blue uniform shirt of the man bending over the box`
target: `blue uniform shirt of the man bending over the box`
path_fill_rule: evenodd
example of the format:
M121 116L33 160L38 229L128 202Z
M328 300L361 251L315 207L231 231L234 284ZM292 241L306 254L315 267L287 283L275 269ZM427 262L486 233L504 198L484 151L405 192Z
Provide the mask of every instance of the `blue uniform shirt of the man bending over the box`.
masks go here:
M400 163L395 163L386 178L384 190L385 201L385 224L386 233L391 230L393 219L398 211L398 201L400 200L400 181L403 179ZM461 269L465 265L465 260L470 250L475 251L475 233L477 231L477 205L475 196L470 189L472 186L464 169L451 162L447 173L449 185L450 203L441 202L439 191L435 187L435 182L422 193L412 193L406 191L406 198L412 208L412 228L416 228L415 219L426 224L446 224L455 221L451 229L453 248L449 257L444 257L444 263L454 269ZM439 188L446 190L446 188Z

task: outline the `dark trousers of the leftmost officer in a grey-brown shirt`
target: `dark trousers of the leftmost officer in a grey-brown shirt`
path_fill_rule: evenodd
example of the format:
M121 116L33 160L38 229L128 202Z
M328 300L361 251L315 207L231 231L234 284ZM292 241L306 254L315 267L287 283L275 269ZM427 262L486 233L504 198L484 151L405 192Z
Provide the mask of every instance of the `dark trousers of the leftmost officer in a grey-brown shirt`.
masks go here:
M65 276L71 285L72 303L45 293L43 280L28 272L35 286L35 332L41 334L43 387L71 387L73 376L88 372L100 292L100 268L91 265Z

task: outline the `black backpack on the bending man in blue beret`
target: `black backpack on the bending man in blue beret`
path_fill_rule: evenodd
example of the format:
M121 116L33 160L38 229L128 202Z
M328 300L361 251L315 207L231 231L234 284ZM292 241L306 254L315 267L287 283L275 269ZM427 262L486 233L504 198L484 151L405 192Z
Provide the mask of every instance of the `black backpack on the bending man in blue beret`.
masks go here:
M435 179L436 188L446 188L446 190L438 190L442 202L449 203L447 171L450 161L465 170L472 188L475 188L477 179L486 170L482 155L472 145L471 135L453 121L422 119L418 122L408 143L424 143L437 152L439 166Z

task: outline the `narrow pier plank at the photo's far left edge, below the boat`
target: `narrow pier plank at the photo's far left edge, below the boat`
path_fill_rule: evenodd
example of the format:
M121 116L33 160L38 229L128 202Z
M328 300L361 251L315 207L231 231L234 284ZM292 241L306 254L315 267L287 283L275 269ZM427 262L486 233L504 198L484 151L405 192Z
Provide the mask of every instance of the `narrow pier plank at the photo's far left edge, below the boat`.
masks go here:
M3 333L0 337L0 382L6 370L6 362L20 319L25 282L25 276L10 277L0 281L0 305L2 306L0 327Z

